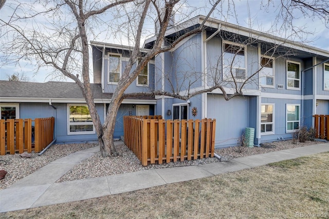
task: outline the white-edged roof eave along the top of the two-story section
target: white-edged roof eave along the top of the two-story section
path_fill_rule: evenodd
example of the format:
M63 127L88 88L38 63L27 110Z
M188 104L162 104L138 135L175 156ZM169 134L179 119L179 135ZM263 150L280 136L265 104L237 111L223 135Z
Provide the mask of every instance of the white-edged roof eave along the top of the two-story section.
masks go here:
M195 16L195 17L189 19L188 21L182 22L181 24L178 24L178 25L173 26L172 28L168 29L166 32L166 36L172 37L175 34L179 35L181 33L184 33L184 31L186 31L186 30L192 30L194 28L197 28L204 22L205 19L206 19L206 16L204 16L204 15ZM271 35L268 33L257 31L257 30L252 30L252 29L249 29L246 27L227 23L227 22L213 19L213 18L209 18L208 21L205 22L205 27L206 27L206 30L209 30L212 32L215 32L217 30L232 32L232 33L236 33L236 34L239 34L242 36L258 39L263 42L268 42L268 43L277 44L277 45L284 45L286 47L297 49L297 50L303 51L308 54L319 56L321 58L329 57L329 51L327 51L327 50L320 49L320 48L313 47L313 46L304 45L300 42L290 41L290 40L280 38L275 35ZM144 48L151 48L153 46L154 42L156 41L156 37L157 36L155 35L155 36L152 36L151 38L145 40Z

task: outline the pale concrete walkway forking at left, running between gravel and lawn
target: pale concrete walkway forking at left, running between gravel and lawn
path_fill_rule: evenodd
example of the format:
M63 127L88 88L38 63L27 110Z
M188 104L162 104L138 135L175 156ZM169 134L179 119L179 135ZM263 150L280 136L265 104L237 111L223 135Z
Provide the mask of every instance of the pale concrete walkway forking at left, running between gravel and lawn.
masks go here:
M271 162L326 152L329 151L329 143L235 158L202 166L154 169L56 183L72 167L98 151L98 147L90 148L55 160L17 181L11 187L1 190L0 212L74 202L239 171Z

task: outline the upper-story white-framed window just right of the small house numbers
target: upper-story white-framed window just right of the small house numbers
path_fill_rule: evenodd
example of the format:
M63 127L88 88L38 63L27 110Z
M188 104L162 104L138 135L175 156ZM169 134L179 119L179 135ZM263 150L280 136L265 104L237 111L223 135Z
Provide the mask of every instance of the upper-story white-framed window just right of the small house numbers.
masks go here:
M287 89L300 90L300 63L287 61Z

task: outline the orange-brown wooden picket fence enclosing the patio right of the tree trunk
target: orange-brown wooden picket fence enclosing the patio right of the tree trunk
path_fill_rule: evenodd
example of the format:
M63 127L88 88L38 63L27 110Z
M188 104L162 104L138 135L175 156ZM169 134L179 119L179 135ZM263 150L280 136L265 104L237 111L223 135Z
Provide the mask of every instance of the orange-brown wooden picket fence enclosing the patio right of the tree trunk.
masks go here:
M124 141L143 166L214 156L215 119L123 118Z

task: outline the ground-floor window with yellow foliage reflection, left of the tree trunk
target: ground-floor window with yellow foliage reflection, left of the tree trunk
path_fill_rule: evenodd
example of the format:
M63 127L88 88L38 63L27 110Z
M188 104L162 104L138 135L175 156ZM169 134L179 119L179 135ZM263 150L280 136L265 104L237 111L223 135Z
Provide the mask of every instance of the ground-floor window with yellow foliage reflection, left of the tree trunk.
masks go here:
M94 134L94 124L87 105L68 105L68 134Z

